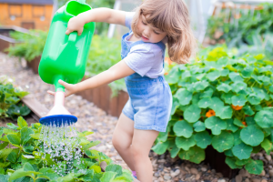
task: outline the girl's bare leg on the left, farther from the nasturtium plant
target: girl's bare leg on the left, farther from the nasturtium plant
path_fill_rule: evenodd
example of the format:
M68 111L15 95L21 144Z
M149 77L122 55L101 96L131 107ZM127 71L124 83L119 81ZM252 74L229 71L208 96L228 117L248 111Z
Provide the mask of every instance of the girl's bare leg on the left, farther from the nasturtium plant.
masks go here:
M112 143L120 157L126 162L127 166L135 171L134 159L131 152L133 135L134 121L121 113L116 124Z

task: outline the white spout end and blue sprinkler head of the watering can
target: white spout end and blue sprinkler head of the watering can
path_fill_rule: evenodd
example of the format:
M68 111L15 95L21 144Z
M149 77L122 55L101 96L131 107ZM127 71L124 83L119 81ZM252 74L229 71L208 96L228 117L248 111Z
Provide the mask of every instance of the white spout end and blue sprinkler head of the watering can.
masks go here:
M47 116L42 117L39 122L45 126L70 126L76 123L76 116L72 116L65 105L65 92L56 91L54 106Z

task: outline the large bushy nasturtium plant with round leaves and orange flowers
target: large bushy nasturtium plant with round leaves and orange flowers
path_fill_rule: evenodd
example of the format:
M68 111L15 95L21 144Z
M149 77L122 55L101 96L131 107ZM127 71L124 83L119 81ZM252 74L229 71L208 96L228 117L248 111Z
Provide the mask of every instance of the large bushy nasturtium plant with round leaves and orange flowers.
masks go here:
M171 116L153 149L198 164L211 145L227 156L229 167L260 174L262 161L250 155L272 151L273 63L263 56L238 57L225 51L216 47L169 71Z

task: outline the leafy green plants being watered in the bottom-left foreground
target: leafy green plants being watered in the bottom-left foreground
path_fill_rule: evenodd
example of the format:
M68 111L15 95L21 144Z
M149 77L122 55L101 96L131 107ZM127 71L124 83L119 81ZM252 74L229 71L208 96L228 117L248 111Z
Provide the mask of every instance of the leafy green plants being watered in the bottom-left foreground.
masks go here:
M25 119L20 116L17 126L8 124L0 128L0 181L1 182L30 182L30 181L96 181L96 182L131 182L131 172L113 163L111 158L91 147L99 141L88 141L86 136L93 132L78 132L82 157L73 161L73 168L61 176L53 170L57 165L66 166L66 160L59 157L52 159L51 154L43 154L43 142L39 136L42 126L40 123L27 126ZM100 164L106 162L105 171Z

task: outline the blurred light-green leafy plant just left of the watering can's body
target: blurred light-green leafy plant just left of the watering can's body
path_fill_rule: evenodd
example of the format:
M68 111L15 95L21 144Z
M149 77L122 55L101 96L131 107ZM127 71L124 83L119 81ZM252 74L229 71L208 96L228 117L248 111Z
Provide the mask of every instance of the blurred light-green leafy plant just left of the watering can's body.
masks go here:
M22 43L11 45L6 50L9 56L25 57L25 60L31 61L36 56L41 56L45 46L47 32L41 30L31 30L30 34L20 32L11 32L12 38Z

